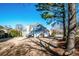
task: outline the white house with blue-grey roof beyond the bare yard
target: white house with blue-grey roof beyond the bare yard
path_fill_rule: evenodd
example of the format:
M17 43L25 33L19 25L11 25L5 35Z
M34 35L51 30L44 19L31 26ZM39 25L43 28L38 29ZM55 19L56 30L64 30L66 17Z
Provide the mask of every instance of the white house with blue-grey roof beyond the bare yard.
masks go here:
M41 24L33 24L26 26L22 32L23 37L48 37L49 31Z

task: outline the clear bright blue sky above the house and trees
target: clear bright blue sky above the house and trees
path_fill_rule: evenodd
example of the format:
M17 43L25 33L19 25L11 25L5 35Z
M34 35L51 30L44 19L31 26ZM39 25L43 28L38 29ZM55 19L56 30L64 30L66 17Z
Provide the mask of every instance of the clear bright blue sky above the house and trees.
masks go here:
M77 10L79 9L78 7ZM36 11L35 4L0 3L0 25L11 25L14 28L16 24L26 26L34 23L41 23L45 27L50 28L45 20L41 18L39 12Z

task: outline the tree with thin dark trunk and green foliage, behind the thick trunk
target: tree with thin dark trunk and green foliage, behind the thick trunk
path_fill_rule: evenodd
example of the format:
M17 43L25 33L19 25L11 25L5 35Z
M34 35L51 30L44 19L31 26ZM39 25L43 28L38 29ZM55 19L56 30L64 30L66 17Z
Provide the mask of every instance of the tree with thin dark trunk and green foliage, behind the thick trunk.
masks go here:
M41 17L47 21L47 24L51 24L52 26L54 26L56 23L59 23L59 22L63 23L63 40L66 40L64 4L63 3L39 3L36 5L36 8L37 8L37 11L41 12Z

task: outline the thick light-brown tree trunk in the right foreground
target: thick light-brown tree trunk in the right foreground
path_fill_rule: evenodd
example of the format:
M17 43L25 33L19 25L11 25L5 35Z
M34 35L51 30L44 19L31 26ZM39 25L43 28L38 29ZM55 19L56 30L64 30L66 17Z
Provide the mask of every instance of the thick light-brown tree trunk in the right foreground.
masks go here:
M67 33L67 51L73 55L75 51L75 33L76 33L76 10L75 3L68 4L68 33Z

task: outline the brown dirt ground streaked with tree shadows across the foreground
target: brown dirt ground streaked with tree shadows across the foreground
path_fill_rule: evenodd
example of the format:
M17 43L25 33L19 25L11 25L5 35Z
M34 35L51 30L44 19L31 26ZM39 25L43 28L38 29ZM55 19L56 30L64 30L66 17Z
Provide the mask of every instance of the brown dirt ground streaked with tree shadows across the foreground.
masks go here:
M58 41L51 38L3 39L0 42L0 56L61 56L64 49L57 46Z

